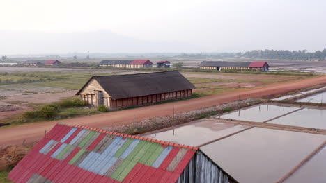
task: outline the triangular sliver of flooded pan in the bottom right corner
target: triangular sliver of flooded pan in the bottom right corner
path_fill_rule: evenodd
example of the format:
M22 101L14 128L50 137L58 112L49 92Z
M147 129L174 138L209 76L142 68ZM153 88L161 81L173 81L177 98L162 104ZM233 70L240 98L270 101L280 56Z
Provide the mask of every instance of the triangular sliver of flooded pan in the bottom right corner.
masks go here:
M284 183L297 183L297 182L314 182L325 183L326 182L326 147L323 150L312 157L309 162L306 162L300 167L293 175L288 177Z

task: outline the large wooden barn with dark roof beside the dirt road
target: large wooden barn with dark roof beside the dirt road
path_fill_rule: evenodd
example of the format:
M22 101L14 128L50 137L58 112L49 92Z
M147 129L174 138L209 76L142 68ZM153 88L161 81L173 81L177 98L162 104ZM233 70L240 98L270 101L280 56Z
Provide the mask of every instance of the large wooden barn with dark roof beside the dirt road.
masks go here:
M94 106L117 108L187 98L194 88L178 71L164 71L93 76L76 95Z

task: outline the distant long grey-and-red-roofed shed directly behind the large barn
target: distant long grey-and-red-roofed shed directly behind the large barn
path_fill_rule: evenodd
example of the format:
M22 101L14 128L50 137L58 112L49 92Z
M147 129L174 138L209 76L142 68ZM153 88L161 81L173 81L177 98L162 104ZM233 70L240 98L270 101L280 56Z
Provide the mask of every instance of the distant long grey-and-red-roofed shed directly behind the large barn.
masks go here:
M143 68L153 67L153 62L150 60L102 60L100 66L122 67L122 68Z

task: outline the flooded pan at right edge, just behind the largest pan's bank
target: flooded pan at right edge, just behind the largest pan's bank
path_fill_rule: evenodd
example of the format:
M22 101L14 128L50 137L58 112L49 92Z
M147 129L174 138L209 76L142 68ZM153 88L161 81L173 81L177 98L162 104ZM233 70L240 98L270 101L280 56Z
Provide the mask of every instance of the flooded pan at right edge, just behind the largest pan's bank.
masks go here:
M305 108L268 123L326 129L326 110Z

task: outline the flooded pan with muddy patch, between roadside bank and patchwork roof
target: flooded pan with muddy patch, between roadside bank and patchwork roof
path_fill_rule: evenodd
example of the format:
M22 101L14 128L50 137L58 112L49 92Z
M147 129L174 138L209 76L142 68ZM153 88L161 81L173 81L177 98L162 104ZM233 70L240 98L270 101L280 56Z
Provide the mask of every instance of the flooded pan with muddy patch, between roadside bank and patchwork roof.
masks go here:
M180 126L174 130L148 134L145 137L188 146L199 146L233 132L238 132L244 128L246 128L246 126L229 125L203 119L196 123Z

